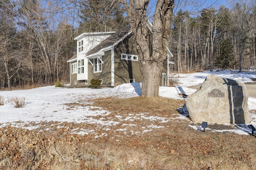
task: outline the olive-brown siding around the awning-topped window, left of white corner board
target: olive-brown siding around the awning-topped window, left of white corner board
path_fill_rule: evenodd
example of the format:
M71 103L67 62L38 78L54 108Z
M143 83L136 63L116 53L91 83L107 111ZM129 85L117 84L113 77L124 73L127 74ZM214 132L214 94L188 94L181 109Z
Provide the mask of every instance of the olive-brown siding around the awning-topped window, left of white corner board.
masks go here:
M92 64L93 59L89 59ZM92 79L102 79L102 86L111 86L111 50L105 51L104 56L102 56L102 72L94 73L94 68L92 64L88 64L88 84Z

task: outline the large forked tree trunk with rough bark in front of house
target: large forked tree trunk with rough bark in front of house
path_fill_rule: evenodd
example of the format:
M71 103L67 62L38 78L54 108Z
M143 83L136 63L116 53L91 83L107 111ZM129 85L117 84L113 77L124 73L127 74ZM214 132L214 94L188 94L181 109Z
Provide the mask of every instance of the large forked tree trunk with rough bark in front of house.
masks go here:
M127 4L128 3L128 4ZM152 23L152 36L147 25L149 0L123 0L132 31L135 35L144 97L158 97L164 61L167 59L167 40L170 37L174 0L157 0ZM134 10L135 9L135 10Z

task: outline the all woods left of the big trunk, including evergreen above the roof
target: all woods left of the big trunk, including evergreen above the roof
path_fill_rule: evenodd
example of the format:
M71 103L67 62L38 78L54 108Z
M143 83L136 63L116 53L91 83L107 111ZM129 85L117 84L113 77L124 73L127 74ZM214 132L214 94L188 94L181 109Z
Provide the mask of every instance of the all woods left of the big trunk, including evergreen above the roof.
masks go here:
M128 25L117 4L0 0L0 88L51 85L58 78L68 83L77 35Z

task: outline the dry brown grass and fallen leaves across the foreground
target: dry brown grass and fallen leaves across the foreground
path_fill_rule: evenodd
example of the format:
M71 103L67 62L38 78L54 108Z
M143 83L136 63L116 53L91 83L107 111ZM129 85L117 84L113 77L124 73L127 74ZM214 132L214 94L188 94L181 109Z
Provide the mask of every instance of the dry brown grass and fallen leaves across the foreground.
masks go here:
M101 98L93 106L111 111L99 120L119 121L109 129L87 123L35 123L41 129L0 129L0 169L95 170L250 170L256 166L256 138L249 135L194 130L188 118L177 119L184 100L166 98ZM77 104L74 103L74 106ZM72 104L69 105L72 107ZM131 115L162 117L118 119ZM134 124L129 126L128 124ZM162 126L145 132L148 125ZM61 125L62 128L57 128ZM194 124L193 124L194 125ZM210 125L211 129L234 128ZM45 131L45 127L49 128ZM163 128L164 127L164 128ZM88 135L74 129L96 130ZM124 131L117 129L126 128ZM138 134L133 132L140 132ZM107 135L101 134L106 133ZM97 138L95 138L98 136Z

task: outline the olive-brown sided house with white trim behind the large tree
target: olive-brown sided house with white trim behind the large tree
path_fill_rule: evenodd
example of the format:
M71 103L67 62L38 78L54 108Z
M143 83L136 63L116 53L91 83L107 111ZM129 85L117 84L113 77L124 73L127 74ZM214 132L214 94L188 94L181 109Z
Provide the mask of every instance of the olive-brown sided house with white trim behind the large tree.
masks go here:
M141 82L136 43L129 27L122 31L82 33L75 38L77 54L70 58L70 86L89 86L90 80L102 81L102 86ZM164 64L160 86L168 86L169 61Z

